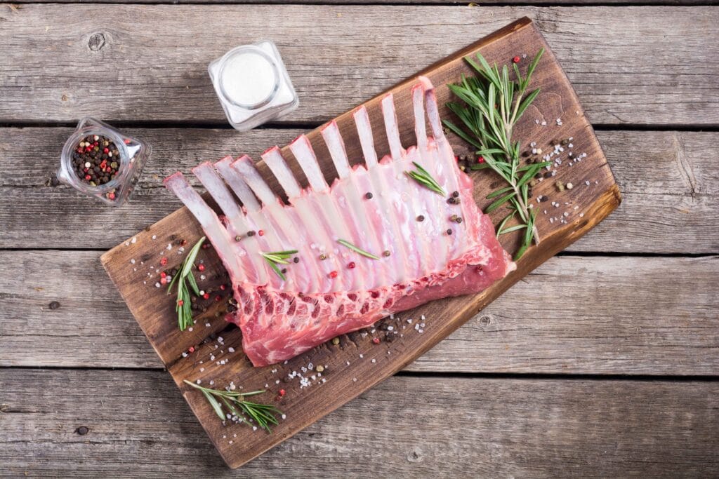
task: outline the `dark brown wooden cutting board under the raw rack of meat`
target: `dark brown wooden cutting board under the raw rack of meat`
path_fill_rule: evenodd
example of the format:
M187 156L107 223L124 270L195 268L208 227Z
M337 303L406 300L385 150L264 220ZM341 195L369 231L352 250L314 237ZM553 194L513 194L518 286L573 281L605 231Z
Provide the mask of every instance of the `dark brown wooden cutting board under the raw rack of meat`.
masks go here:
M339 344L329 342L319 345L286 364L253 368L242 353L239 329L224 321L229 288L223 290L219 287L227 282L226 272L212 249L201 251L198 257L205 265L199 281L200 288L212 292L209 300L201 301L205 310L196 315L196 325L192 330L178 330L174 297L165 294L165 287L155 286L161 270L178 266L185 257L181 249L183 240L187 242L185 248L189 249L202 236L198 223L186 208L180 208L102 256L102 264L150 344L230 467L237 468L252 460L414 361L546 259L587 233L618 206L619 189L592 126L567 76L531 20L520 19L421 73L436 85L442 105L441 115L449 118L449 111L444 107L449 100L446 84L457 82L462 73L470 74L463 57L481 52L490 62L503 64L519 56L524 70L541 47L546 52L532 79L532 87L541 87L541 94L524 114L516 136L523 141L525 150L529 149L528 142L536 141L536 146L547 152L554 149L557 142L571 137L571 150L575 156L582 155L582 161L569 164L565 152L562 154L563 164L557 168L557 176L547 178L533 188L541 244L532 247L518 261L516 271L481 294L431 302L395 315L391 320L383 320L381 327L377 325L344 335L339 338ZM416 75L413 75L390 90L395 96L405 146L415 141L410 97L410 87L415 81ZM365 106L370 112L377 154L381 157L389 152L389 148L379 103L380 96L377 96L367 101ZM344 113L336 121L344 136L350 160L361 161L351 114ZM332 180L334 167L319 131L314 130L308 136L328 180ZM458 139L453 139L453 144L456 154L470 152L467 145ZM569 145L564 148L569 151ZM229 153L239 156L242 152ZM298 178L304 180L286 147L283 154L290 159L289 163ZM267 168L260 164L260 171L279 194L281 190ZM472 176L475 179L475 199L484 208L490 203L485 196L496 190L500 182L488 170L473 172ZM572 189L560 192L555 186L555 182L559 181L564 184L571 182ZM536 200L539 195L549 197L549 200L540 203ZM495 224L503 215L505 213L501 208L493 213ZM517 236L505 235L501 240L508 251L516 251ZM162 258L167 259L167 264L160 263L164 261ZM199 275L196 273L196 276ZM373 341L375 338L380 339L379 344ZM193 352L189 352L191 348ZM316 366L322 366L324 371L318 373ZM288 375L293 371L306 381L301 381L299 376L290 379ZM285 419L273 428L271 434L238 424L223 426L206 399L199 391L184 384L183 379L199 379L203 386L217 389L228 386L231 381L245 391L267 389L267 393L256 396L257 400L277 404ZM279 396L280 389L285 390L282 398Z

